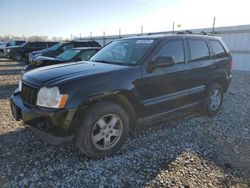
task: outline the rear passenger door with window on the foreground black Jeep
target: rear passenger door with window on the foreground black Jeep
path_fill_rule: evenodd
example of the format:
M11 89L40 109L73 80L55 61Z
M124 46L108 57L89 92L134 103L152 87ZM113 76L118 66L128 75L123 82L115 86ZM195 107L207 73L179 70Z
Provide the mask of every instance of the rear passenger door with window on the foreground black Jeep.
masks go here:
M205 98L206 90L215 64L211 57L208 40L205 38L188 38L190 75L189 80L193 88L200 88L202 92L193 96L192 100Z

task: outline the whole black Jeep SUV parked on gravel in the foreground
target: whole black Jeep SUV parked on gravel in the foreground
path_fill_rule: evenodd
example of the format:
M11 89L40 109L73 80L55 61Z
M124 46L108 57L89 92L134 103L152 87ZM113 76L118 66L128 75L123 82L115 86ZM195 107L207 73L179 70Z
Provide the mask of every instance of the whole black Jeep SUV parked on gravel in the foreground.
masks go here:
M199 105L221 107L232 57L218 37L148 35L112 42L88 62L37 68L11 97L12 114L50 143L92 158L116 152L136 122Z

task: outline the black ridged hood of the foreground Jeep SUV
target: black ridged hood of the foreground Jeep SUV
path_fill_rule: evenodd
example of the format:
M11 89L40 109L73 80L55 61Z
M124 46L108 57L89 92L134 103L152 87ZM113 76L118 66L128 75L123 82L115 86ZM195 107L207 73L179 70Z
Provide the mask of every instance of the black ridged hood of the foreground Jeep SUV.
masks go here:
M23 81L38 87L53 86L127 68L129 68L129 66L90 61L63 63L28 71L23 75Z

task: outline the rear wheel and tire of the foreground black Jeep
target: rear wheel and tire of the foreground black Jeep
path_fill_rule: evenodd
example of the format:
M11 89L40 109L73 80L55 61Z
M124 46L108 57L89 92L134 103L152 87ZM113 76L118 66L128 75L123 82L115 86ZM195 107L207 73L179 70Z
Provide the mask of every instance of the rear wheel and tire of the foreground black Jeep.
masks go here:
M221 85L218 83L212 83L207 94L206 102L203 105L203 113L210 117L215 116L220 110L222 101L223 89Z

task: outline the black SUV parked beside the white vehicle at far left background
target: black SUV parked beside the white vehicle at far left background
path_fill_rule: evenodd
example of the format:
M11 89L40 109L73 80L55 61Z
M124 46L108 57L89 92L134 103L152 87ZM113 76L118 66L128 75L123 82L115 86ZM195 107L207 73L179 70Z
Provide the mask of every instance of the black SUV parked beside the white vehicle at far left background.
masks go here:
M24 59L25 54L35 50L41 50L54 45L56 42L25 42L20 46L10 46L6 48L5 55L16 61Z

